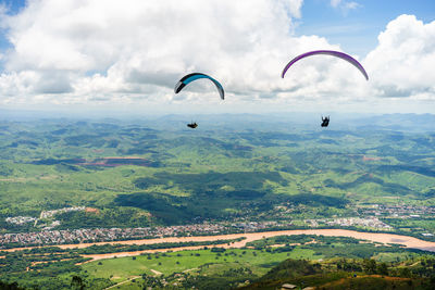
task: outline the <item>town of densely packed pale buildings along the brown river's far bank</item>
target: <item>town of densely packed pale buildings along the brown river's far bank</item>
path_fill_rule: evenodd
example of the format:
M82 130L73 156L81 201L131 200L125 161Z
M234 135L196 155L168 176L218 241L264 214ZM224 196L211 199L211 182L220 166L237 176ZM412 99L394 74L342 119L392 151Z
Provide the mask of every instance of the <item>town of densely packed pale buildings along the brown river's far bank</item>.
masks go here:
M30 216L7 217L7 222L15 225L35 223L54 218L57 214L69 211L86 211L85 206L63 207L54 211L42 211L39 218ZM287 211L286 206L281 206ZM385 223L381 217L418 218L420 216L433 216L435 206L412 206L412 205L378 205L371 204L357 207L361 216L333 217L318 219L281 219L264 222L206 222L200 224L182 226L156 226L141 228L90 228L90 229L66 229L55 230L60 225L59 220L52 220L50 226L44 227L40 231L14 232L0 235L0 248L48 245L65 243L83 243L99 241L116 241L133 239L150 239L161 237L189 237L204 235L225 235L236 232L254 232L276 229L296 228L358 228L362 230L394 231L394 227ZM421 232L423 237L433 237L433 232Z

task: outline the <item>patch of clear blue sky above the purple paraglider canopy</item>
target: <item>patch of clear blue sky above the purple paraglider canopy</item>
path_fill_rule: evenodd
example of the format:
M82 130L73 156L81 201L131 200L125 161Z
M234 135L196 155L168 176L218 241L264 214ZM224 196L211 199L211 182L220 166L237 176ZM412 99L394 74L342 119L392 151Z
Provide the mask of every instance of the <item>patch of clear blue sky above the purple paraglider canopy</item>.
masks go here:
M435 20L434 0L363 0L353 1L352 10L341 4L333 8L328 0L306 0L297 35L319 35L339 43L349 53L364 56L377 45L377 35L401 14L412 14L427 23Z

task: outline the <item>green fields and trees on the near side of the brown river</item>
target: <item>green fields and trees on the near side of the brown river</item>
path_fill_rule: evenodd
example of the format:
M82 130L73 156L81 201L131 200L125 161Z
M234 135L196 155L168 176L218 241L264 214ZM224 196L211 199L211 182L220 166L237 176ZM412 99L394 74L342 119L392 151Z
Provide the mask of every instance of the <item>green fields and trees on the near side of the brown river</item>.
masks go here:
M361 285L365 278L380 283L397 280L397 286L412 280L414 286L422 286L417 289L427 289L424 287L435 279L435 254L431 252L340 237L277 236L241 249L206 247L98 261L83 256L92 252L107 253L111 249L116 254L119 249L111 247L69 250L51 247L4 252L1 277L7 283L48 289L69 288L73 281L77 287L89 289L121 282L125 289L152 286L171 289L174 283L178 288L195 286L197 289L211 286L215 289L274 289L284 282L323 286L344 279L347 285L347 279L353 279L353 275L361 279ZM136 251L136 248L123 250Z

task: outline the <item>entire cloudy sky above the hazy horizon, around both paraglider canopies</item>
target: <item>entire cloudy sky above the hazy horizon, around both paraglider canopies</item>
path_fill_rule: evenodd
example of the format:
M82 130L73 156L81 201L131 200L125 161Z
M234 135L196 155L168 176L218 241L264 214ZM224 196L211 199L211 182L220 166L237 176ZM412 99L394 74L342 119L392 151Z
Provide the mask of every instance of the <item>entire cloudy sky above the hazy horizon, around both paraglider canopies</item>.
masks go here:
M306 59L330 49L347 62ZM433 0L0 0L0 109L435 113ZM181 93L185 74L210 81Z

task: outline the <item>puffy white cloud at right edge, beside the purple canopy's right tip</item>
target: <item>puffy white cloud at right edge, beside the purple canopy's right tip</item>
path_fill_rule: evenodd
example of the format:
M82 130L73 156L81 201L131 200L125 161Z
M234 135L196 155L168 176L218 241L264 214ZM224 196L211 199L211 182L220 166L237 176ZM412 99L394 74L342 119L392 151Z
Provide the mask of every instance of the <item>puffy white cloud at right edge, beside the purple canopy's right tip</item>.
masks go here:
M435 100L435 21L398 16L364 62L377 96Z

